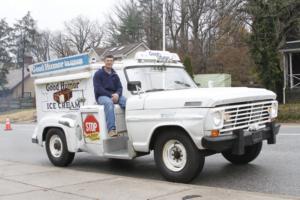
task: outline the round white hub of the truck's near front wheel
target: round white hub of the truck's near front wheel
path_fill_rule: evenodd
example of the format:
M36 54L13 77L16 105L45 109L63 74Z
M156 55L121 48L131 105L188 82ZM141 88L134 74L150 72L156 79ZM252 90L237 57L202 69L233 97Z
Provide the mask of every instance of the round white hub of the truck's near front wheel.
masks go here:
M182 170L187 161L186 149L178 140L169 140L163 147L163 162L172 171Z

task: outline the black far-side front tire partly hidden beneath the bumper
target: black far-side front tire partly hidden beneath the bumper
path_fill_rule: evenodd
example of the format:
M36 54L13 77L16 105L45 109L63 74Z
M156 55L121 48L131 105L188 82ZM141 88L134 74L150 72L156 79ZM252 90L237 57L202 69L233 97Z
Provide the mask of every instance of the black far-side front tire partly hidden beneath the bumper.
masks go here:
M222 152L222 155L232 164L243 165L253 161L259 155L261 149L262 142L259 142L252 146L245 147L245 153L243 155L232 154L231 150Z

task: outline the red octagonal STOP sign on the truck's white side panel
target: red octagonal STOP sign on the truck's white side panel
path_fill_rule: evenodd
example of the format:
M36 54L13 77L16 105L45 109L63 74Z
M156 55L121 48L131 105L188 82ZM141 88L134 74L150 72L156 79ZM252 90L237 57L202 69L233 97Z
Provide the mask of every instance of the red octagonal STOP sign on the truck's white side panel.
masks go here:
M93 114L88 114L83 121L84 135L92 140L99 138L99 122Z

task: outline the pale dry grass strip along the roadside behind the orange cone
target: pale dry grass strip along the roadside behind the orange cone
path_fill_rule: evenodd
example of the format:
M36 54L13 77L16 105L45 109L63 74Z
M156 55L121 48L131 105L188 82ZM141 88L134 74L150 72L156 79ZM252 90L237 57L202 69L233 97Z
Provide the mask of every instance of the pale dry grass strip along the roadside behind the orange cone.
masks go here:
M0 114L0 123L5 123L6 118L11 122L34 122L36 120L35 109L22 109Z

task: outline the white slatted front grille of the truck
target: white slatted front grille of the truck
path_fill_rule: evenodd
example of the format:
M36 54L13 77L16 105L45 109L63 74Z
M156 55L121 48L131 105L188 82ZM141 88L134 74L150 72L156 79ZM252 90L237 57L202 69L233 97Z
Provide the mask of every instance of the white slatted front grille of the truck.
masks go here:
M251 124L263 125L270 122L271 105L272 101L263 101L225 106L226 119L220 132L225 134L237 129L247 129Z

